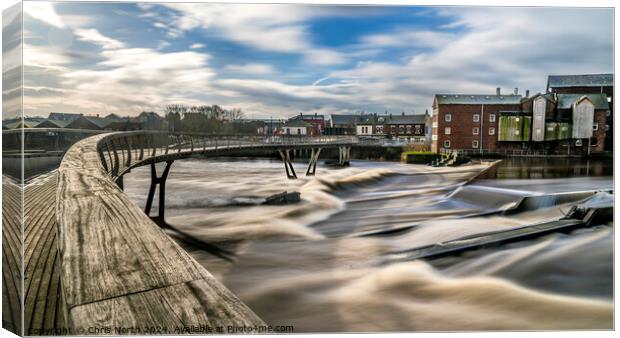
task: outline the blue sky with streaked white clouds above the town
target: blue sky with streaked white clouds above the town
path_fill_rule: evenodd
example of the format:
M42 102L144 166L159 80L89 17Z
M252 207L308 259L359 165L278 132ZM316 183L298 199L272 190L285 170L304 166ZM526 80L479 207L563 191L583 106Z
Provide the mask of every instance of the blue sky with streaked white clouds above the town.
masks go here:
M436 93L612 72L613 10L25 2L23 48L26 115L422 114Z

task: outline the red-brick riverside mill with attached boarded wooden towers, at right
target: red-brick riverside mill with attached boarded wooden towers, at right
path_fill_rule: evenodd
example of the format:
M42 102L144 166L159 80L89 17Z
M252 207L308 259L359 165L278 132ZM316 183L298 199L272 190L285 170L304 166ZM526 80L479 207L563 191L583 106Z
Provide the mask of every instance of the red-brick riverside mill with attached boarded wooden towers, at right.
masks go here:
M602 152L610 115L605 93L438 94L431 150Z

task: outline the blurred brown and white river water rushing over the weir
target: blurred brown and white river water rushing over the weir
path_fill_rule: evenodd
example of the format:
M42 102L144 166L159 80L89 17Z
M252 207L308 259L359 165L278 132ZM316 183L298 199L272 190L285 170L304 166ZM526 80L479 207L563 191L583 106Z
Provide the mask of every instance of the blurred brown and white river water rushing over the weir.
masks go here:
M613 188L611 161L513 159L479 175L487 168L352 161L288 180L280 161L188 159L168 177L166 220L234 253L230 262L180 241L268 324L295 332L612 328L613 224L432 261L384 259L571 207L493 213L523 196ZM149 184L149 167L137 168L125 191L144 206ZM261 205L283 191L302 201Z

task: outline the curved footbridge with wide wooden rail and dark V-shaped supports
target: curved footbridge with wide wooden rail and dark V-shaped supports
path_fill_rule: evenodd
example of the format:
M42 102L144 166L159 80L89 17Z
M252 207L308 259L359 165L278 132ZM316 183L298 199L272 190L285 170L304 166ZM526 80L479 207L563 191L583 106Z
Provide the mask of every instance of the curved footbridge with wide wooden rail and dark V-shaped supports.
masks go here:
M226 330L229 325L262 325L148 216L156 187L158 216L163 218L165 181L177 159L271 149L281 154L289 178L294 178L291 151L312 152L307 171L312 175L321 149L339 148L344 163L355 142L350 137L125 132L95 135L74 144L58 170L55 208L63 317L68 327L84 334L122 334L136 332L105 328ZM158 176L155 164L159 162L166 163L166 168ZM144 165L151 166L153 178L146 212L122 191L123 175ZM104 331L89 332L92 328Z

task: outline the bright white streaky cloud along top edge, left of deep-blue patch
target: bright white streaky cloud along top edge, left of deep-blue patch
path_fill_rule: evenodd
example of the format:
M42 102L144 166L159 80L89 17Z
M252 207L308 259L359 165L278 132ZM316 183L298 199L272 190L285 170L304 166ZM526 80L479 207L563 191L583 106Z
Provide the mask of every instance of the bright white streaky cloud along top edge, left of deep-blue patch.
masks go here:
M347 59L339 51L315 46L306 24L321 15L347 15L339 9L263 4L166 3L161 6L174 11L166 27L168 34L175 36L199 28L213 29L228 40L259 51L302 54L303 60L310 64L334 65ZM143 9L147 17L162 19L161 14L152 12L153 7Z

